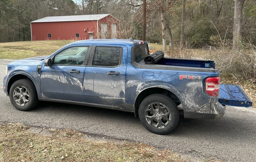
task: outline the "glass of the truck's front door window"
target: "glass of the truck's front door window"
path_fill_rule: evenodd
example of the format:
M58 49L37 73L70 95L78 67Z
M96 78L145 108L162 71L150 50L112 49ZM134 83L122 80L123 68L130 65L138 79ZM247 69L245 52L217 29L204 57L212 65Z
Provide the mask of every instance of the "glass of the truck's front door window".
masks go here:
M71 47L54 57L53 65L83 65L88 46Z

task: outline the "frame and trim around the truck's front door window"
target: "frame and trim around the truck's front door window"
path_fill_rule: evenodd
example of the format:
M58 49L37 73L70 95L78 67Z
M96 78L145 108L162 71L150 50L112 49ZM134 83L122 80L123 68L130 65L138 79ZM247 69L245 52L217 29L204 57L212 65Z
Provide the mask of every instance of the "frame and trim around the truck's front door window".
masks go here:
M64 48L63 50L61 50L61 51L59 51L58 53L54 54L54 56L53 56L52 58L50 58L50 59L51 59L52 62L54 63L55 56L57 56L59 53L63 52L64 50L69 49L69 48L72 48L72 47L88 47L88 50L87 50L86 55L85 55L85 58L84 58L83 65L52 64L51 66L79 66L79 67L87 66L88 59L89 59L89 55L90 55L90 53L91 53L91 48L92 48L91 45L80 45L80 46L71 46L71 47Z

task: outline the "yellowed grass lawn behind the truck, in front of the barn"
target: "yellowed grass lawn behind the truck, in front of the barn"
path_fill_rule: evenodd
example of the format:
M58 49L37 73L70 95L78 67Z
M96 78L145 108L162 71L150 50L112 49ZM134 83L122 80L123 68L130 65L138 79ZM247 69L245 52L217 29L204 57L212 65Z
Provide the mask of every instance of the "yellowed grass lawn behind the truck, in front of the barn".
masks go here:
M47 40L47 41L20 41L0 43L0 59L25 59L35 56L50 55L61 47L73 42L68 40ZM162 50L162 45L149 44L153 47L153 52ZM182 53L178 49L169 52L167 46L167 57L202 57L209 53L207 50L185 49Z

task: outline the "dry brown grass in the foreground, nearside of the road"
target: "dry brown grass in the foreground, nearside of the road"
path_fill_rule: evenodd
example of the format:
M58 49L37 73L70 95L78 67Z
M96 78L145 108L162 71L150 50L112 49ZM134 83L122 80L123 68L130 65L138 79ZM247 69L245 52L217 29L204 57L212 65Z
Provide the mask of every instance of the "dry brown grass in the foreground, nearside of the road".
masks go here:
M0 130L1 162L182 161L169 150L134 142L93 140L77 131L39 129L40 133L35 133L28 126L10 123L0 124Z

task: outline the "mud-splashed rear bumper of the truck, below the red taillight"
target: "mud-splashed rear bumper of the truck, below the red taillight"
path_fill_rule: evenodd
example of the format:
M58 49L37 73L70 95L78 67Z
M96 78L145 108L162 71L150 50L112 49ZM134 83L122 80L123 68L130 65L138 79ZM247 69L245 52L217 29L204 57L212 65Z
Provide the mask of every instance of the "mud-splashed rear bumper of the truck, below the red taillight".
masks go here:
M184 118L215 119L221 118L226 112L226 107L221 103L207 103L196 110L184 110Z

